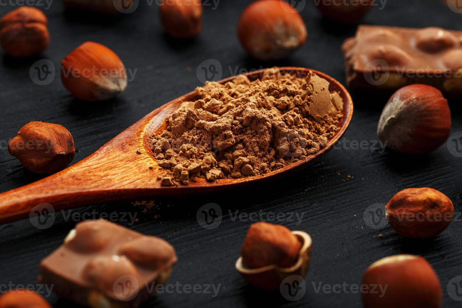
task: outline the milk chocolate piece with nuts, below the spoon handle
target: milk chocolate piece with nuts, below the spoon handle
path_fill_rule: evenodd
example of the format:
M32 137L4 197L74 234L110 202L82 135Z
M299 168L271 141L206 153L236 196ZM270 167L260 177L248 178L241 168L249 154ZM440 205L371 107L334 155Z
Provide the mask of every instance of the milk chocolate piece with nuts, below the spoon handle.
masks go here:
M105 220L78 223L40 263L39 281L87 307L132 308L165 284L175 249L155 236Z

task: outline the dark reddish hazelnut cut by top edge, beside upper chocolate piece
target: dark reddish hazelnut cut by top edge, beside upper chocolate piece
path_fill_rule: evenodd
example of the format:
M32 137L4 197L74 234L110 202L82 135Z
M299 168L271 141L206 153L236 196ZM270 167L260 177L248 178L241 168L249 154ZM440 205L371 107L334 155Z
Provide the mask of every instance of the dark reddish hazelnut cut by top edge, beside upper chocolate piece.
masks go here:
M315 1L322 15L336 22L356 24L371 9L372 0Z

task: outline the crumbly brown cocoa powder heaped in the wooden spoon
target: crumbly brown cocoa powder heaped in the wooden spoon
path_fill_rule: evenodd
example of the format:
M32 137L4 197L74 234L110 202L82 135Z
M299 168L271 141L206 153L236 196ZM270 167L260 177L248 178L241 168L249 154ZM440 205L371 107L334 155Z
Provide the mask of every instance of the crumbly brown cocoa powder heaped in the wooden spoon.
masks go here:
M221 85L207 82L171 115L168 129L153 137L162 185L206 178L240 178L280 169L315 154L340 130L343 101L329 82L263 72L250 82L239 75Z

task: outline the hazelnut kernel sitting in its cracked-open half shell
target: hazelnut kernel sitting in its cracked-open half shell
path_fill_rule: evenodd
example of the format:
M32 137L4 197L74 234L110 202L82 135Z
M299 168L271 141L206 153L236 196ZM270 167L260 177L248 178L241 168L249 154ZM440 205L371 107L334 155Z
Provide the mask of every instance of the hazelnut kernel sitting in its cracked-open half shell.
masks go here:
M236 269L263 290L277 290L292 275L304 277L311 259L311 237L284 226L254 223L250 226L236 261Z

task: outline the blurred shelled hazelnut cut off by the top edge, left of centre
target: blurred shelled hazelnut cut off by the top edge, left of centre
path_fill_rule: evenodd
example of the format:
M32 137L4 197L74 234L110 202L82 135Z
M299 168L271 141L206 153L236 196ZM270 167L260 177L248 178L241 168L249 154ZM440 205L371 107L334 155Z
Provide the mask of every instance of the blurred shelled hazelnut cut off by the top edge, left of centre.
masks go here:
M163 0L159 13L160 22L170 36L193 38L201 32L201 0Z

